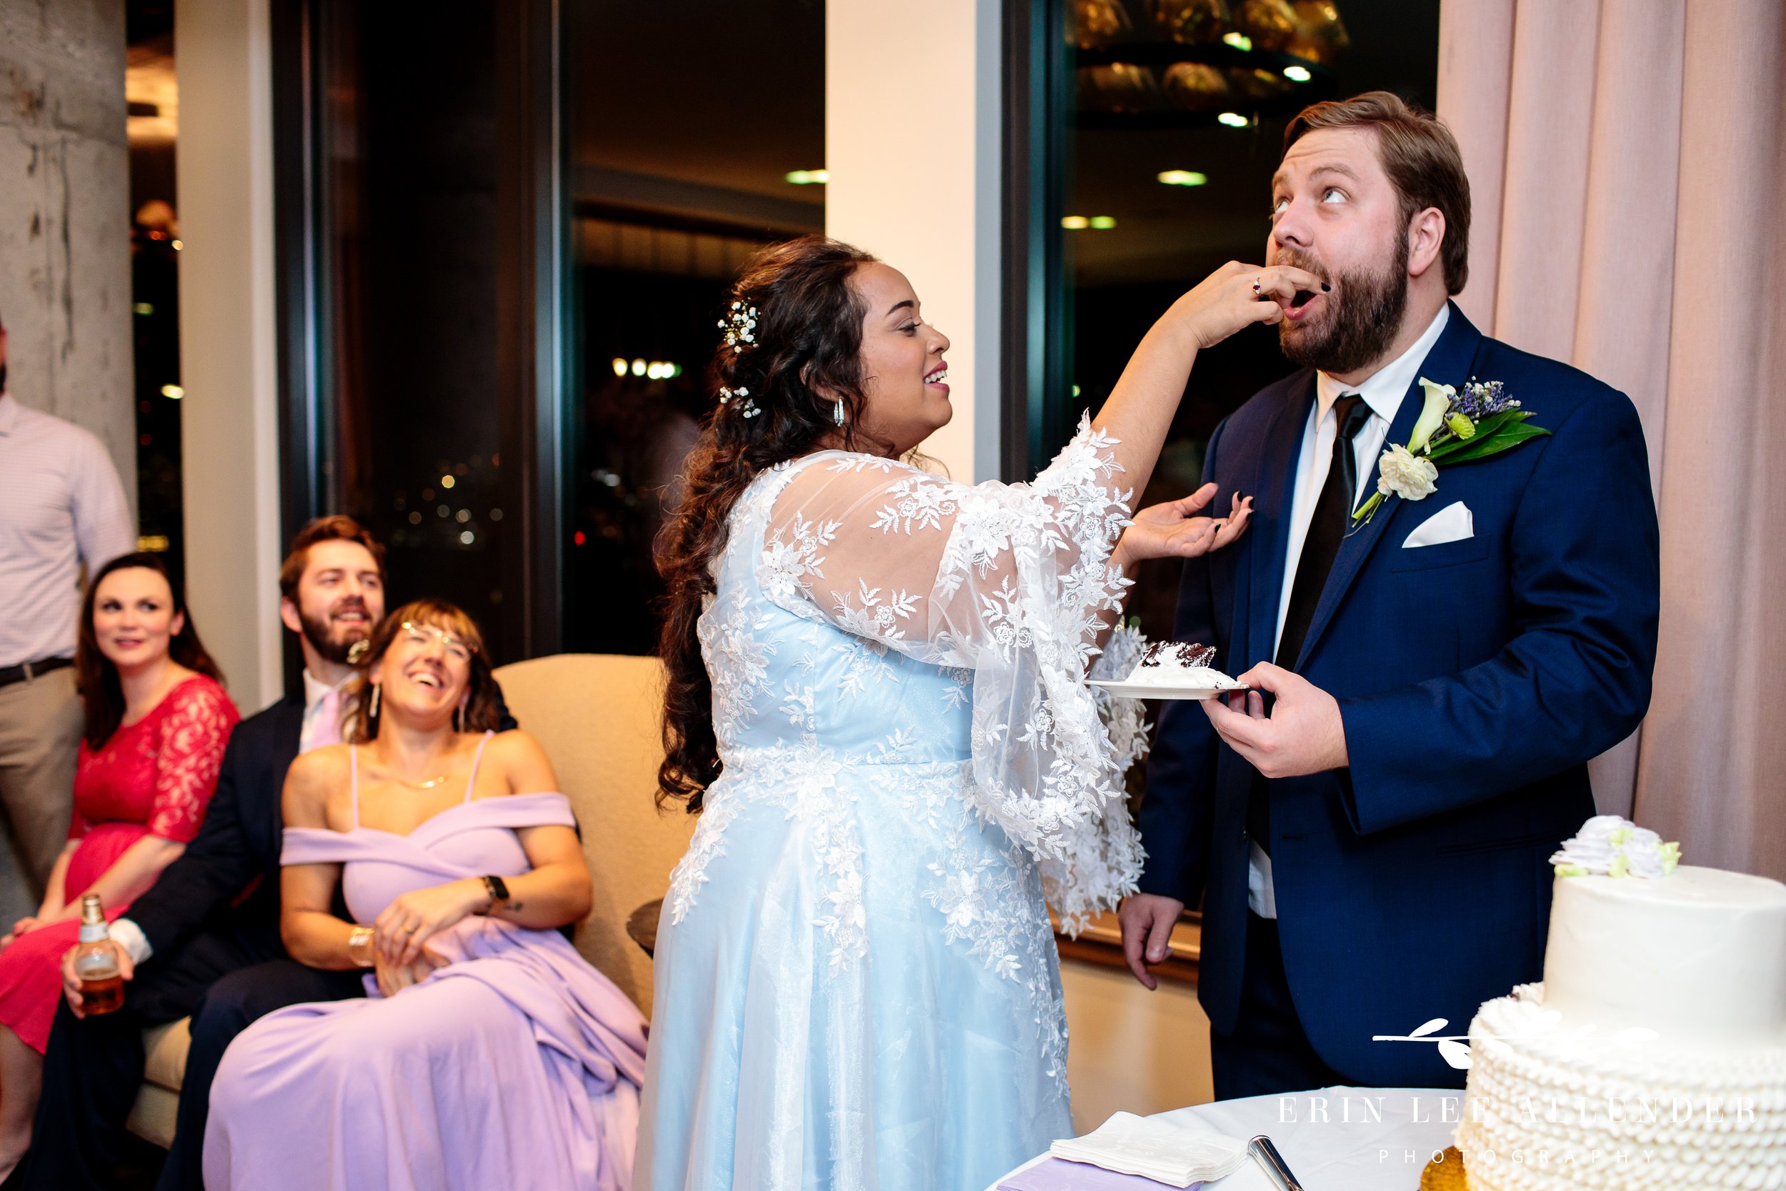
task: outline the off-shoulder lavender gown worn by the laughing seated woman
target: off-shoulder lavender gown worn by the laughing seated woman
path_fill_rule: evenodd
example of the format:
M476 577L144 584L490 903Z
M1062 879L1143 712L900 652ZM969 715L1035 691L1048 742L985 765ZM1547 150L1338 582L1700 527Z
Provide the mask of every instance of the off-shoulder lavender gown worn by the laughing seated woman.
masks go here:
M468 780L409 836L359 827L357 770L354 830L289 827L280 861L345 864L359 923L409 889L525 873L514 830L573 823L564 795L473 802ZM368 977L368 1000L293 1005L230 1045L211 1191L630 1186L645 1018L625 993L555 930L466 918L429 946L452 962L396 996Z

